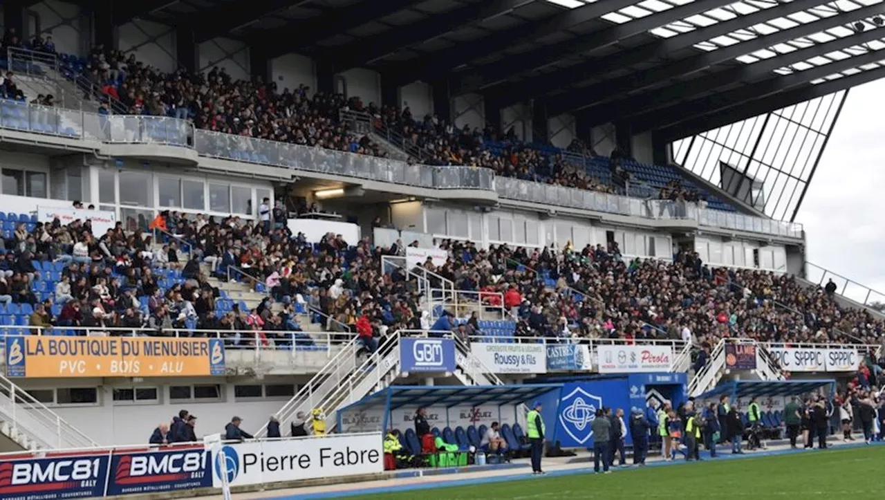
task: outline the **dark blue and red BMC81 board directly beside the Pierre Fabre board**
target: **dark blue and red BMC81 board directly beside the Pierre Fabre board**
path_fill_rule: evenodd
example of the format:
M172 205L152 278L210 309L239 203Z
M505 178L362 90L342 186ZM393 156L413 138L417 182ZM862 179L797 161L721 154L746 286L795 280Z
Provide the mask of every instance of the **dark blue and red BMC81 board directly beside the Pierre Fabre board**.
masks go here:
M199 448L119 452L111 456L107 496L142 495L176 489L210 488L209 453Z

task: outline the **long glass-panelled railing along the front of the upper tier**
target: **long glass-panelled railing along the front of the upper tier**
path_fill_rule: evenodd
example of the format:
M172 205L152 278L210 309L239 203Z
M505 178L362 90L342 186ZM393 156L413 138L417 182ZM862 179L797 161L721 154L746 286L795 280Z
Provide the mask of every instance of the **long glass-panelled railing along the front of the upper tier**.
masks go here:
M644 200L543 182L520 181L497 177L489 168L409 165L389 158L195 130L191 122L183 119L99 115L0 100L0 127L98 142L181 146L194 149L197 154L207 158L273 165L419 188L495 191L497 196L521 202L617 213L644 219L692 220L700 226L793 238L802 238L804 235L801 224L705 209L694 203ZM667 207L674 203L678 206L671 212ZM679 208L683 206L684 210Z

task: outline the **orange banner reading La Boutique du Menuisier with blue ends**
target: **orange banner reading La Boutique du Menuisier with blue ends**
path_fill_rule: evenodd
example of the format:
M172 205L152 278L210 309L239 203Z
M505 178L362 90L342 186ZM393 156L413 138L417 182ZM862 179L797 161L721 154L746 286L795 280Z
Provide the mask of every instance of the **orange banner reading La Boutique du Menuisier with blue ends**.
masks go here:
M165 377L225 374L221 339L6 337L11 377Z

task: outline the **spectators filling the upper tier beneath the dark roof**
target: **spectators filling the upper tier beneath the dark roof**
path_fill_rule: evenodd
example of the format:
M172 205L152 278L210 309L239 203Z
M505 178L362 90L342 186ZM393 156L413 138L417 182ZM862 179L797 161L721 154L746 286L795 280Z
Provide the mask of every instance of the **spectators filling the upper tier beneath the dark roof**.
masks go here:
M22 43L14 32L4 37L5 47L28 47L55 53L51 36L38 35ZM273 81L252 78L235 80L224 68L208 73L189 73L180 69L164 73L135 58L135 53L113 50L97 45L89 52L83 75L101 88L118 108L132 114L169 116L193 119L196 127L225 134L258 139L318 146L385 158L386 150L368 136L353 135L340 119L342 111L366 112L378 125L389 127L402 135L419 151L412 162L427 165L470 165L490 168L497 175L527 181L539 181L570 188L590 189L605 193L620 192L629 174L620 167L618 151L612 153L611 175L603 181L587 172L583 160L570 161L548 148L530 147L513 134L493 127L462 129L435 115L413 117L408 106L402 110L391 106L364 104L358 97L312 92L304 85L278 91ZM5 77L13 87L0 86L15 94L12 74ZM5 95L5 93L4 93ZM51 96L38 96L40 104L52 105ZM102 104L99 112L107 112ZM489 148L489 144L503 144ZM568 148L582 156L595 156L592 148L575 141ZM561 151L559 151L561 153ZM700 201L694 189L668 186L660 191L661 199Z

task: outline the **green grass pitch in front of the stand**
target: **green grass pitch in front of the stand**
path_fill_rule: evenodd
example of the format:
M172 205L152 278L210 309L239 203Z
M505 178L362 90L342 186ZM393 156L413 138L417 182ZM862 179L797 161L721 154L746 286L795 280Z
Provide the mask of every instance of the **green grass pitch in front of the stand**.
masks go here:
M685 465L650 466L611 474L532 477L521 481L413 489L349 498L386 500L651 500L657 498L876 498L885 447L810 450L786 455L704 460Z

